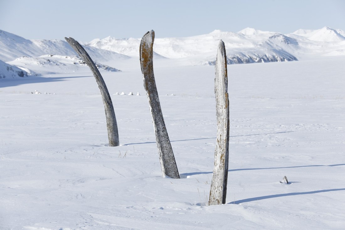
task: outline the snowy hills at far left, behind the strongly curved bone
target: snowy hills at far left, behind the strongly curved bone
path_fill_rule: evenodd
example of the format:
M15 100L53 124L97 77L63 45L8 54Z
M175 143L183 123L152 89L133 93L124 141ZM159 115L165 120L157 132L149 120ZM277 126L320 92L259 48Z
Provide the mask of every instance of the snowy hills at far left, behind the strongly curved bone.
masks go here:
M98 62L127 59L126 55L113 51L84 46L100 70L119 71ZM86 64L76 57L76 52L63 40L27 40L12 33L0 30L0 60L2 78L13 78L14 72L25 76L44 73L68 73L77 71ZM20 69L18 69L19 67ZM8 71L14 69L16 71Z

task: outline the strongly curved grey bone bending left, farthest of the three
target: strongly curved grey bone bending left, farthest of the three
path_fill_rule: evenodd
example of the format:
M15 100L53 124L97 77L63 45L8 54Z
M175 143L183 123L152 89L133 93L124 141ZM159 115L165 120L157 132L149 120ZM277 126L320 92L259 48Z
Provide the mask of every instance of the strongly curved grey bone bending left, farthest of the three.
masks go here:
M101 92L104 109L107 119L107 128L108 128L108 138L109 146L119 146L119 133L117 129L117 122L114 112L114 106L112 105L111 98L108 92L108 88L103 80L102 75L99 73L95 63L93 63L89 54L86 50L73 38L66 38L68 44L77 52L77 54L85 61L85 63L90 67L93 76L96 78L98 88Z

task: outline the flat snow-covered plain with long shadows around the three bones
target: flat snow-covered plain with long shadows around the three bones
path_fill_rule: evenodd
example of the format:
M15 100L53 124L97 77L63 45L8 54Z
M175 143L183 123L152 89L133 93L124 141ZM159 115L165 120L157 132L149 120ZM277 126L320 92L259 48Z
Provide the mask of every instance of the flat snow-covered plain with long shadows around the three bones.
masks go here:
M214 206L214 66L154 59L181 179L161 175L138 58L116 56L105 64L121 71L101 70L118 147L107 146L87 66L54 73L31 63L40 76L0 79L0 229L344 229L345 56L320 50L228 65L227 204Z

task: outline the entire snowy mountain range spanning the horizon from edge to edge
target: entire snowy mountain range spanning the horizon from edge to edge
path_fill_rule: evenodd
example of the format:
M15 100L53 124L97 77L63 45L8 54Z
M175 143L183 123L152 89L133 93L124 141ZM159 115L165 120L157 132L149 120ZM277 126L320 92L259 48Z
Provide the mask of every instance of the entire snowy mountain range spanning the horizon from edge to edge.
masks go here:
M214 65L220 39L225 42L228 64L345 55L345 32L324 27L318 30L299 29L286 35L245 28L236 33L214 30L192 37L156 38L154 57L181 59L187 65ZM94 39L83 47L94 61L116 63L116 60L137 58L139 44L140 38L107 37ZM30 72L30 68L33 68L40 72L40 68L51 69L54 66L51 72L70 71L69 68L63 70L63 65L68 65L65 61L71 61L76 58L75 55L75 51L64 40L28 40L0 30L0 60L19 66L22 70ZM69 64L74 65L73 61ZM104 66L108 70L111 68ZM76 70L74 67L71 69Z

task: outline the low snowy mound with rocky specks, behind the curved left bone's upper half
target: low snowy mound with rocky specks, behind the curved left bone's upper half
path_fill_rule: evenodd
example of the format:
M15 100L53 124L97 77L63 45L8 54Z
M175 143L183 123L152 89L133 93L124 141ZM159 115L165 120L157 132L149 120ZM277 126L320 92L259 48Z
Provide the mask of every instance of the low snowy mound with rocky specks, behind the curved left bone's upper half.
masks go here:
M79 70L80 67L87 67L85 61L83 61L79 56L61 56L52 54L42 55L37 58L20 57L14 61L9 61L8 63L20 68L29 68L38 73L69 73ZM99 70L111 72L121 71L98 62L95 62L95 65Z

